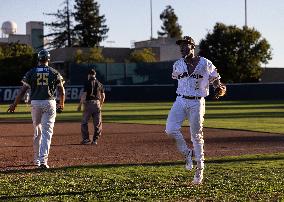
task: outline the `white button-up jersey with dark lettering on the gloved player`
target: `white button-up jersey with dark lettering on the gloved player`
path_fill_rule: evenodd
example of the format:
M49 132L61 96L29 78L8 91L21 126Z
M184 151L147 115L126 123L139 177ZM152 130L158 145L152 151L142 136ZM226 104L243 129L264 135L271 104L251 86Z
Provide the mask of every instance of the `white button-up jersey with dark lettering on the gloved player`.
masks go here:
M177 94L206 97L209 95L209 84L221 77L210 60L200 57L190 75L184 58L177 60L173 65L172 78L178 80Z

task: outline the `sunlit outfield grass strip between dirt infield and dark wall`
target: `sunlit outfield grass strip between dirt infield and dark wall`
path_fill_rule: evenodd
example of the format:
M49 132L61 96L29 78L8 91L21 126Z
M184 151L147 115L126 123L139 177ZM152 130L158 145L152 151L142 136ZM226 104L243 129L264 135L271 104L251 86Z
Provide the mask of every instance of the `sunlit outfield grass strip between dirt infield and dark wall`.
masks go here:
M66 104L57 120L80 121L77 104ZM172 102L106 103L103 121L117 123L165 124ZM30 119L29 107L19 105L7 114L0 105L0 119ZM207 101L205 127L240 129L284 134L284 101ZM184 125L188 125L184 123Z

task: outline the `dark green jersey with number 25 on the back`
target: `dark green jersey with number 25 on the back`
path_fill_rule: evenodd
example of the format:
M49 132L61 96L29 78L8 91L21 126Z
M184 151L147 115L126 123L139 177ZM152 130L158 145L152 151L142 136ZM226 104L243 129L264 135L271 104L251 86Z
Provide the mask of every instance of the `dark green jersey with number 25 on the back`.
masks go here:
M62 76L57 70L40 65L28 71L22 82L30 86L31 100L53 100L61 80Z

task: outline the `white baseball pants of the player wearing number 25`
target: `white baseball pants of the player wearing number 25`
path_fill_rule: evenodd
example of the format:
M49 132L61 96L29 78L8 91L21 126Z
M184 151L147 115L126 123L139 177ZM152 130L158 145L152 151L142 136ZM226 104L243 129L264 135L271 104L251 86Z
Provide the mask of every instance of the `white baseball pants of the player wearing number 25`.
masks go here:
M32 100L31 114L34 127L34 161L47 164L56 117L55 100Z

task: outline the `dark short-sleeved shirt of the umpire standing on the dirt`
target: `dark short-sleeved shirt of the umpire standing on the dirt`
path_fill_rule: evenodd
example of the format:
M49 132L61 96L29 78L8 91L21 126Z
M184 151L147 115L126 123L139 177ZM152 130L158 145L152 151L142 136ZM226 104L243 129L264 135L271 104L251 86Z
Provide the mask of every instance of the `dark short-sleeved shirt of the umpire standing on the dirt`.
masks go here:
M84 92L87 92L86 100L100 100L104 86L97 79L90 79L84 85Z

